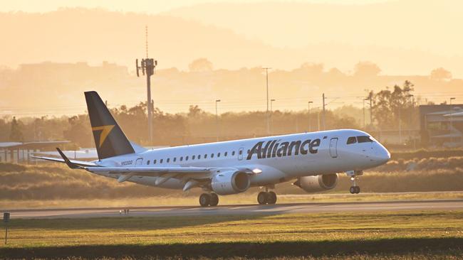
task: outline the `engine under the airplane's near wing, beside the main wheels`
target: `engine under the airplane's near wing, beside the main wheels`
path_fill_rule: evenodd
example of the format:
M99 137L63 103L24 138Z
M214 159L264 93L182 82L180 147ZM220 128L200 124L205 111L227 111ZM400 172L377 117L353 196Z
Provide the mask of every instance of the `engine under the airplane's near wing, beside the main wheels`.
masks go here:
M249 175L239 170L218 173L211 182L212 190L219 195L244 193L250 185Z

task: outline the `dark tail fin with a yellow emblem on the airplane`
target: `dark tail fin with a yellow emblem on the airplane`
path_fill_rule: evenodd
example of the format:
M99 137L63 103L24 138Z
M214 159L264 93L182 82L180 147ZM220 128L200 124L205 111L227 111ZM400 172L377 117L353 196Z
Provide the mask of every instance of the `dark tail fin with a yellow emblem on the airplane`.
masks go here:
M92 126L98 158L104 159L123 154L135 153L118 123L110 114L108 107L95 91L85 92L88 116Z

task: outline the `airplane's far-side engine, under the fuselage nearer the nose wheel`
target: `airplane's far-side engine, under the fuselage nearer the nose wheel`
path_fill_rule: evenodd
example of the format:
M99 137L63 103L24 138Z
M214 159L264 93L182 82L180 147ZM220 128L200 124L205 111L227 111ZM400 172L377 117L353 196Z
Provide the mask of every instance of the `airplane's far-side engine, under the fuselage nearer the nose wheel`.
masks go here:
M293 185L308 193L331 190L338 185L338 173L299 177Z

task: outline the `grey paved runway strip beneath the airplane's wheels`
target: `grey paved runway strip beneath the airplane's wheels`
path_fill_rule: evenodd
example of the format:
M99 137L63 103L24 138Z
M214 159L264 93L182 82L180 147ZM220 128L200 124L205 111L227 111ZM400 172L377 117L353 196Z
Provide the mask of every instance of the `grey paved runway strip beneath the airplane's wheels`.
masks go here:
M219 205L217 207L129 207L10 210L11 218L85 218L85 217L168 217L214 215L279 215L322 212L387 212L420 210L463 210L463 200L422 200L387 202L305 202L276 205Z

